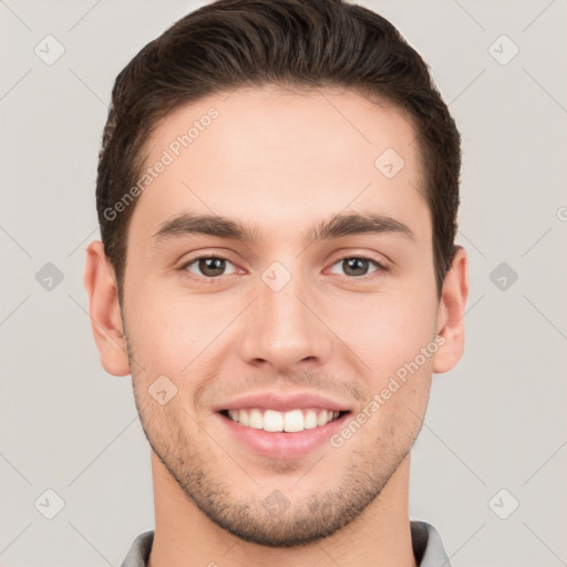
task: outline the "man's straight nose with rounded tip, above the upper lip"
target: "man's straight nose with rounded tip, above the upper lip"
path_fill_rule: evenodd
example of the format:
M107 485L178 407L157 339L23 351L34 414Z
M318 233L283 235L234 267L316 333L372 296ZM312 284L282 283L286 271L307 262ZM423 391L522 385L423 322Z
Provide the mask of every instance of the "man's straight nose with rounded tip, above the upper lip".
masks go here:
M277 373L326 363L334 336L324 324L322 301L298 275L279 290L268 284L258 280L258 297L243 321L243 360L256 367L270 364Z

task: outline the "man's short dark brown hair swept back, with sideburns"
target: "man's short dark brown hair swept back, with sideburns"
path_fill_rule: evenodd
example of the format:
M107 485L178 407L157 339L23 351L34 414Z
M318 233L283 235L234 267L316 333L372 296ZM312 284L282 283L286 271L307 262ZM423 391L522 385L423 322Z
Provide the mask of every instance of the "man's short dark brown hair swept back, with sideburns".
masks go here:
M461 136L420 54L384 18L341 0L218 0L187 14L121 71L99 156L96 208L122 299L144 144L182 104L238 86L340 86L404 109L417 133L437 293L454 257Z

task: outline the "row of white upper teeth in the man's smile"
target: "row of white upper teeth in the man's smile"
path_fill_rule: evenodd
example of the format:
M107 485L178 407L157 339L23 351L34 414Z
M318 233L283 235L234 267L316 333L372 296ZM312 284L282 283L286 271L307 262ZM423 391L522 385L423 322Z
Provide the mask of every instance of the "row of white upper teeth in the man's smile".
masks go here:
M278 412L276 410L252 408L248 410L228 410L228 415L233 421L248 427L292 433L324 425L338 417L339 412L332 410L291 410L289 412Z

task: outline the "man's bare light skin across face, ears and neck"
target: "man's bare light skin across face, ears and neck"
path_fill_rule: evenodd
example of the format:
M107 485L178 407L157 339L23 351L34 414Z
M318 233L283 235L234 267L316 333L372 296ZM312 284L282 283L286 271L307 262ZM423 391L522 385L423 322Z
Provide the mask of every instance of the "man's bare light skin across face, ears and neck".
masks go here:
M102 244L87 250L101 362L112 374L132 373L153 447L150 565L415 566L410 449L432 374L462 355L468 293L462 248L436 293L415 131L400 109L352 91L240 89L171 113L148 141L147 164L212 106L218 118L135 205L122 307ZM374 166L386 148L405 162L391 179ZM184 212L256 225L256 239L186 234L156 244L163 223ZM351 212L388 215L413 238L302 239ZM228 259L213 284L198 262L186 266L200 252ZM370 262L349 271L342 259L352 257L388 270ZM260 277L274 261L291 274L279 291ZM212 410L269 389L329 395L355 415L437 333L443 346L339 449L262 457ZM147 389L164 374L177 393L161 405ZM287 499L282 514L262 506L274 491Z

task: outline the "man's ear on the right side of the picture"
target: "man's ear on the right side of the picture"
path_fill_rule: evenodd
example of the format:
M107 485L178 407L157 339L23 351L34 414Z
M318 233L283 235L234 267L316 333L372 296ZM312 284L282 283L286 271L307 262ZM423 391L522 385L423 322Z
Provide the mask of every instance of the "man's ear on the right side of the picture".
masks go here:
M456 246L451 269L445 276L437 310L437 334L444 343L435 353L433 371L451 370L463 355L465 346L465 305L468 297L468 259L462 246Z

